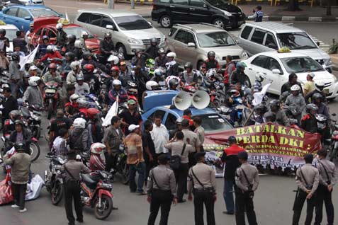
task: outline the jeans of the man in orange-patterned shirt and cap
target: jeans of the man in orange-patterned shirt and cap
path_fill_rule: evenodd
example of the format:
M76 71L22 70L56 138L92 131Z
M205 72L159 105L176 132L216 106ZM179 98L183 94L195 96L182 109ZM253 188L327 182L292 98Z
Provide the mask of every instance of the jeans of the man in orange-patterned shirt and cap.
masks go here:
M135 183L136 172L138 173L137 186ZM129 164L129 188L130 192L143 192L143 183L145 183L145 163Z

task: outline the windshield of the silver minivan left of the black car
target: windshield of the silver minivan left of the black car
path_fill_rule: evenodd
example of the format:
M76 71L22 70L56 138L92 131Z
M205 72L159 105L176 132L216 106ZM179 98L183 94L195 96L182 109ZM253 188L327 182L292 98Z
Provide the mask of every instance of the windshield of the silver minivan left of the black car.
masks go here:
M141 16L120 16L114 18L121 30L144 30L152 28Z

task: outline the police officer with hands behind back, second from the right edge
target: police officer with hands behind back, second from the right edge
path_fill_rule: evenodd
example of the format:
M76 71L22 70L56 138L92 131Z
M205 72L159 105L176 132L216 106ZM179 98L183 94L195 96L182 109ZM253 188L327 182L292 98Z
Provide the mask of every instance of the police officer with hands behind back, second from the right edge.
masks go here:
M305 200L307 200L305 225L310 225L315 207L315 192L318 188L320 175L317 168L312 166L313 155L305 154L305 165L298 168L295 172L295 182L298 185L297 195L293 204L292 224L298 225L300 214L303 209Z

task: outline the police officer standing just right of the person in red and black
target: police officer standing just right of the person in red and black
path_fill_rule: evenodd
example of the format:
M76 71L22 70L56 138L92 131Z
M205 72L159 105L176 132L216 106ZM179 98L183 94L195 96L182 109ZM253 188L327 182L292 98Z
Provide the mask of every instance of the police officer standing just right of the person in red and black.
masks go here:
M237 157L242 164L235 174L235 215L236 225L244 225L244 211L247 212L247 220L250 225L257 225L256 213L254 212L254 192L259 185L258 170L247 162L248 154L240 151Z

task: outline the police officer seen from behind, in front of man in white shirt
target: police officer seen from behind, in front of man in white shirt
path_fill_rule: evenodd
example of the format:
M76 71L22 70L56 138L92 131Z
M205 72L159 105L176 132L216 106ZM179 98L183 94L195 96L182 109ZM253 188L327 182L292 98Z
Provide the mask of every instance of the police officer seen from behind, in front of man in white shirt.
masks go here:
M169 167L167 154L160 155L157 162L159 166L150 171L147 182L147 201L150 202L148 225L154 225L159 207L161 207L159 224L167 225L171 202L177 203L176 180L174 171Z

